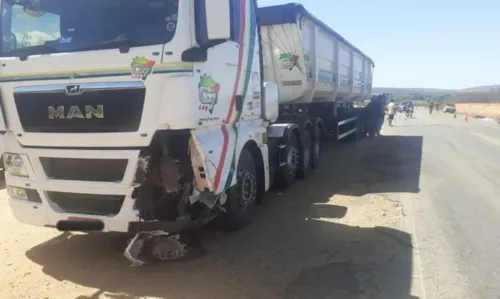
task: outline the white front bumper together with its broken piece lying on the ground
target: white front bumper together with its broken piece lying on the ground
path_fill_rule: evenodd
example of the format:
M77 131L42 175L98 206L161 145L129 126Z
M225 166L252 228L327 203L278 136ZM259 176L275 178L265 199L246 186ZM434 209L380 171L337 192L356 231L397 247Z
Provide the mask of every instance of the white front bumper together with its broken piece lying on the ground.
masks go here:
M26 169L25 176L6 172L8 189L27 195L9 192L19 222L65 231L135 234L125 251L134 265L144 263L139 256L148 242L156 259L185 257L189 246L178 235L214 218L192 220L186 214L175 221L143 221L136 202L137 187L145 175L139 149L26 148L8 134L4 152L22 157Z

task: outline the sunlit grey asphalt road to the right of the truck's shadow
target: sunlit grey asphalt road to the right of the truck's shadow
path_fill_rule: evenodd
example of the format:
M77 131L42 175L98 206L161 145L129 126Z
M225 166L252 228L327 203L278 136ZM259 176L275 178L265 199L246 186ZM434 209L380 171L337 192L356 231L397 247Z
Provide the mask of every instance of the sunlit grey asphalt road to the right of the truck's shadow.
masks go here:
M387 131L423 137L420 192L399 197L424 296L500 298L500 127L421 109Z

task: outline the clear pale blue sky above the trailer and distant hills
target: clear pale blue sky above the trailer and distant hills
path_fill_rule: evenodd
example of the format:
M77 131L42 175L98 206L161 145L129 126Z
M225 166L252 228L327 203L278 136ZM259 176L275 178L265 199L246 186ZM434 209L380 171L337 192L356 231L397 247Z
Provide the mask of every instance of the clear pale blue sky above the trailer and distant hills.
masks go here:
M375 61L374 86L460 89L500 84L500 1L297 2Z

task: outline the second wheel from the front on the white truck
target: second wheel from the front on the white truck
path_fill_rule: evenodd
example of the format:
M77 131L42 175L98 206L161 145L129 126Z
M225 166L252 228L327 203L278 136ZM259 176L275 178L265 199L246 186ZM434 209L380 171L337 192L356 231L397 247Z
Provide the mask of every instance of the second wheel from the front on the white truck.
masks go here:
M285 165L280 167L276 175L276 184L282 188L288 188L294 183L300 163L297 137L293 132L290 132L287 137Z

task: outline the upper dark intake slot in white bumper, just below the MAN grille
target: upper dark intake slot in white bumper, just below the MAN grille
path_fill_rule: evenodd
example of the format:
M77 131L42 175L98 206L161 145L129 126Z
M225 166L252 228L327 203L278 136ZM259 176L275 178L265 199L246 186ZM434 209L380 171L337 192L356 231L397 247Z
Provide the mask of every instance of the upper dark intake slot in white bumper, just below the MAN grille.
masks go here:
M74 159L41 157L47 177L56 180L120 182L127 168L126 159Z

